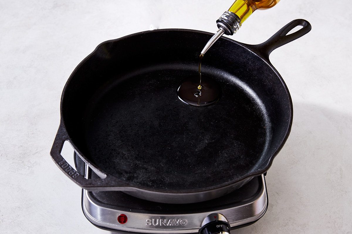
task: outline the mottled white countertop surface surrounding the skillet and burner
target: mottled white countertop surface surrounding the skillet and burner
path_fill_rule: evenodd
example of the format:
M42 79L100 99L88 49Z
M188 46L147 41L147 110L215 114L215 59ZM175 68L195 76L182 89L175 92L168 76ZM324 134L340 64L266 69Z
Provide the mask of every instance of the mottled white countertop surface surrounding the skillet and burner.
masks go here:
M102 41L150 28L215 32L231 4L0 1L0 233L107 233L86 220L81 189L49 156L67 78ZM281 1L232 36L258 44L293 19L313 27L270 56L293 98L292 132L266 177L268 211L234 233L352 233L349 5ZM132 11L138 18L130 18Z

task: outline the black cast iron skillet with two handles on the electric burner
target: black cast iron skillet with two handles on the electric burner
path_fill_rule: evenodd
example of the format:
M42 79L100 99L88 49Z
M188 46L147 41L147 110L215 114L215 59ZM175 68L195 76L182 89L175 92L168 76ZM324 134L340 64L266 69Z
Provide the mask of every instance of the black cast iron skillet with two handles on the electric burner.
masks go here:
M161 29L103 42L64 87L50 154L87 190L166 203L229 193L265 173L288 138L292 101L269 54L310 29L298 19L259 45L220 38L203 59L202 74L222 91L208 107L186 105L177 88L197 75L211 33ZM65 141L99 177L86 179L68 165Z

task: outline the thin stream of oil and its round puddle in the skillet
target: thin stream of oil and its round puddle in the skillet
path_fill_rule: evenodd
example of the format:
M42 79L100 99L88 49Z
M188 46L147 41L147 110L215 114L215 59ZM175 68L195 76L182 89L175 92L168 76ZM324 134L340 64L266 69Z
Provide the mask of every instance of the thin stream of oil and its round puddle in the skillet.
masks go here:
M203 56L199 55L198 76L187 77L177 89L178 98L192 106L209 106L220 98L219 84L209 76L202 75Z

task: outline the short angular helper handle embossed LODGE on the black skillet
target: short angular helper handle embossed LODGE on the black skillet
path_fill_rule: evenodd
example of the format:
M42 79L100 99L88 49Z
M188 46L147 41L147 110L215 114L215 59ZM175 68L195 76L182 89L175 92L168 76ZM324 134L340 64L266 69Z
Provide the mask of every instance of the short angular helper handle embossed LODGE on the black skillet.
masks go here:
M52 145L50 155L56 165L61 169L65 175L68 176L73 182L86 190L113 190L119 188L119 190L128 190L128 184L124 181L118 180L111 175L105 174L97 170L93 165L90 165L84 158L80 158L102 179L86 179L83 175L78 173L69 163L62 157L61 151L65 141L68 141L69 137L67 131L62 123L60 123L59 129L55 136L54 143ZM79 155L79 154L78 154Z

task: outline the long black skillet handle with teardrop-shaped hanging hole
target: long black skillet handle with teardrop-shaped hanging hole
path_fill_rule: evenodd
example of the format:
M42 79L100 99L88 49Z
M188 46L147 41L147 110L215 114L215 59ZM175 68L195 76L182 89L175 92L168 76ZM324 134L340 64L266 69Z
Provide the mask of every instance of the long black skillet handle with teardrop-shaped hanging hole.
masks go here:
M297 26L303 26L303 28L299 29L297 32L287 35L292 29ZM274 49L283 46L291 41L294 41L303 35L306 35L311 29L312 26L307 20L293 20L287 25L285 25L283 28L281 28L267 41L263 42L262 44L255 45L254 48L256 48L261 54L263 54L266 58L269 59L269 55L272 51L274 51Z

